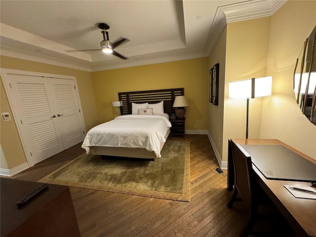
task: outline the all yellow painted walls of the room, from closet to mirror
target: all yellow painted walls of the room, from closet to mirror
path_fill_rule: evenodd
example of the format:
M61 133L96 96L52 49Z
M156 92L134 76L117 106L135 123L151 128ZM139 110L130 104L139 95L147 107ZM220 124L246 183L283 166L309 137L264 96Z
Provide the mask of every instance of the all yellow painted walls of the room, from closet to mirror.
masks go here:
M249 138L276 138L316 159L316 126L302 116L292 89L295 60L315 24L316 1L286 1L270 17L229 23L208 58L89 73L1 56L0 67L75 76L86 130L118 115L111 103L118 92L184 87L186 129L208 129L222 161L228 139L245 137L246 100L228 98L229 81L271 75L273 96L250 100ZM219 106L208 102L216 63ZM0 93L0 111L11 113L2 82ZM1 121L0 141L8 168L26 162L13 120Z

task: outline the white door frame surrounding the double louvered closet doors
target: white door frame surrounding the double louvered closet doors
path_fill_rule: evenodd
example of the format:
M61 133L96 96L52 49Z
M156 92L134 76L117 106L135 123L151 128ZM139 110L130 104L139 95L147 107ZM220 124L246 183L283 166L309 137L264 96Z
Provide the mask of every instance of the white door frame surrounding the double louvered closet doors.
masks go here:
M25 154L25 157L27 159L27 162L28 162L28 165L29 167L33 166L32 165L32 162L30 161L30 154L27 152L27 149L26 149L26 144L24 143L23 139L22 139L22 134L21 134L21 131L20 131L20 128L18 126L18 119L14 113L14 109L13 109L13 106L12 106L12 99L10 98L10 84L9 84L9 81L7 79L7 75L21 75L21 76L34 76L34 77L44 77L44 78L56 78L56 79L72 79L74 80L74 83L75 83L75 86L76 86L76 93L77 93L77 99L78 99L78 103L79 103L79 110L80 110L80 117L81 117L81 121L82 121L82 127L83 127L83 131L84 131L84 134L86 134L86 129L85 129L85 122L84 122L84 119L83 119L83 113L82 113L82 108L81 108L81 101L80 101L80 97L79 97L79 91L78 91L78 85L77 85L77 79L76 77L73 77L73 76L64 76L64 75L57 75L57 74L47 74L47 73L39 73L39 72L31 72L31 71L22 71L22 70L15 70L15 69L5 69L5 68L0 68L0 74L1 74L1 79L2 79L2 82L3 82L3 86L4 86L4 90L6 92L6 95L7 95L7 99L9 101L9 105L10 105L10 109L12 111L12 116L14 118L14 122L15 122L15 126L18 130L18 134L19 134L19 137L20 137L20 141L21 141L21 144L22 144L22 147L23 147L23 151L24 151L24 154Z

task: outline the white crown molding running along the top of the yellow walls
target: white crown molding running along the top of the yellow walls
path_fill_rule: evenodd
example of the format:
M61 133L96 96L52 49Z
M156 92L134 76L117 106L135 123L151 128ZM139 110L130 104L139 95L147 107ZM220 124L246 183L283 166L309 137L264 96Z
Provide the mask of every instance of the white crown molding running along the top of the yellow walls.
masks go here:
M53 56L43 56L35 52L23 51L9 46L1 45L0 55L19 58L39 63L51 64L60 67L67 67L87 72L97 72L110 69L142 66L147 64L164 63L200 57L208 57L221 36L227 23L249 20L259 17L271 16L279 9L286 0L246 0L243 2L228 4L217 7L212 25L206 41L205 51L191 52L172 56L149 56L147 58L125 60L108 64L105 61L92 63L78 59L77 62L70 62L67 59L57 59Z

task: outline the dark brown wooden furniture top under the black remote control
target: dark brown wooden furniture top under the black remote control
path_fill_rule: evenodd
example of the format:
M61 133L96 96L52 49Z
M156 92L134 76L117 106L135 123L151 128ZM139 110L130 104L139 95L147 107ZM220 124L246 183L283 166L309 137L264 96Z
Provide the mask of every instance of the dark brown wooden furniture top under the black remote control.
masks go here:
M79 237L69 187L49 184L22 207L15 204L42 183L1 178L1 237Z

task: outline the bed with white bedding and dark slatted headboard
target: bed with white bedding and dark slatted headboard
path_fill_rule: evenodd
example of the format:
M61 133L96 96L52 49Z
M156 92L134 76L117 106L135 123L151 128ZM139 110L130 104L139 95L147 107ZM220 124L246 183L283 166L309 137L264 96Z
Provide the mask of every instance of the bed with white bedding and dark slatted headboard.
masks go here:
M118 93L121 116L90 129L81 147L87 154L159 158L179 95L184 95L183 88Z

